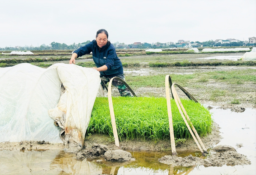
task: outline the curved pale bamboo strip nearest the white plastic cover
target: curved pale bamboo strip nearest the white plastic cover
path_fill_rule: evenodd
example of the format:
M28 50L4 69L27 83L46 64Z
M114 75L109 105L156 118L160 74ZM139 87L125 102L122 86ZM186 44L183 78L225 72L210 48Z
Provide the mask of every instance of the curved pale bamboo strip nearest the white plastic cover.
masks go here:
M112 85L112 81L114 78L115 77L111 78L108 83L108 105L109 105L109 110L110 110L110 117L111 117L111 124L112 124L112 128L113 128L113 135L114 135L114 139L115 139L115 145L117 147L119 147L119 140L118 140L117 129L116 129L116 119L115 119L112 96L111 96L111 85Z

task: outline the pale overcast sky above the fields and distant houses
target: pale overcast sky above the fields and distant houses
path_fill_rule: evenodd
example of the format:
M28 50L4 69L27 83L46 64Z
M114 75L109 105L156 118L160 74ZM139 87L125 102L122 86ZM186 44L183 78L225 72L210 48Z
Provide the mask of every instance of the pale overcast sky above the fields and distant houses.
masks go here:
M256 0L0 0L0 47L256 37Z

